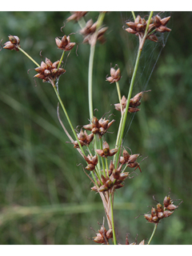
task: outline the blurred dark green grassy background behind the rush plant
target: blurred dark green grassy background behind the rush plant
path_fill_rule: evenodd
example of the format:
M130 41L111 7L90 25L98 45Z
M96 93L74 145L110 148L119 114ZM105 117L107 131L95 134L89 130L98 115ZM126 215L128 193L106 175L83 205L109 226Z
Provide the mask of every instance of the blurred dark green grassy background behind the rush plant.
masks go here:
M142 174L137 170L138 176L133 174L115 195L114 222L122 244L126 233L130 233L130 242L137 234L138 242L150 238L153 224L143 216L135 217L156 205L153 195L162 202L170 190L170 197L182 198L183 203L158 225L151 244L192 241L192 13L160 14L169 15L167 26L172 31L159 35L158 43L146 43L135 81L133 96L141 90L151 92L144 94L141 111L134 118L129 115L123 145L148 158L141 162ZM54 62L62 54L54 42L63 36L60 27L65 24L66 35L76 32L70 39L78 43L78 56L75 47L68 58L65 55L66 74L59 79L59 91L73 125L82 126L89 122L90 46L82 44L78 23L66 22L69 16L70 12L1 12L0 38L5 43L9 34L18 35L22 49L38 63L45 57ZM86 21L90 18L95 22L98 12L86 14ZM116 119L110 127L114 134L106 134L111 146L119 118L111 104L118 102L118 95L115 85L106 82L106 74L110 74L110 65L118 64L122 71L119 84L127 96L138 49L138 38L123 29L127 20L133 20L130 12L106 13L106 43L98 43L95 49L94 108L98 118L109 110L115 114L110 117ZM58 122L54 90L48 83L34 82L34 67L20 52L0 52L0 244L92 245L90 227L99 229L98 222L105 216L102 203L98 194L90 192L82 166L77 166L84 163L82 158L66 143L69 139Z

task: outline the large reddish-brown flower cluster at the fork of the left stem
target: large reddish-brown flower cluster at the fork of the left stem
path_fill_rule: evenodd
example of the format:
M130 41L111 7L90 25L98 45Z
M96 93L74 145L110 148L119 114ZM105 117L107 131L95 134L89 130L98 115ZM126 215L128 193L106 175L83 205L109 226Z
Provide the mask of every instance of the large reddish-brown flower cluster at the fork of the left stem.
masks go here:
M41 66L34 69L38 72L34 75L34 78L40 78L42 82L48 82L49 79L55 80L66 72L66 70L58 68L58 63L59 61L52 63L49 58L46 58L45 62L41 62Z

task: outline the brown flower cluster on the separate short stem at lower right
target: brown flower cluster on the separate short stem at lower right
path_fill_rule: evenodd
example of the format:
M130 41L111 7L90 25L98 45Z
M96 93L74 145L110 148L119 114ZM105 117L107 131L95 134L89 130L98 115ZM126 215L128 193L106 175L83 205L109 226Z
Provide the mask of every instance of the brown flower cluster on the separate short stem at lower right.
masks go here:
M182 202L179 204L181 203ZM160 204L160 202L158 202L157 209L152 206L151 214L144 214L144 217L148 222L158 224L162 218L170 217L170 215L174 213L174 210L178 209L178 206L174 205L173 200L170 199L170 196L166 196L163 200L163 206Z

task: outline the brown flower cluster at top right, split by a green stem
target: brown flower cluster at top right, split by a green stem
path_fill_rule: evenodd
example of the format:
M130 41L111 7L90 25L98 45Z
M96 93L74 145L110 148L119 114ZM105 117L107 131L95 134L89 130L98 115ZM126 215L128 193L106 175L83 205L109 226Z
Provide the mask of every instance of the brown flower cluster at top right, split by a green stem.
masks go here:
M146 38L150 39L151 41L158 42L158 38L154 33L156 31L160 33L170 32L170 28L166 27L166 24L167 22L169 22L169 20L170 16L166 18L161 18L156 15L154 16L154 18L151 18ZM126 31L143 38L146 32L147 22L148 21L146 21L145 18L141 18L140 15L138 15L138 17L135 18L134 22L126 22L126 25L129 26Z

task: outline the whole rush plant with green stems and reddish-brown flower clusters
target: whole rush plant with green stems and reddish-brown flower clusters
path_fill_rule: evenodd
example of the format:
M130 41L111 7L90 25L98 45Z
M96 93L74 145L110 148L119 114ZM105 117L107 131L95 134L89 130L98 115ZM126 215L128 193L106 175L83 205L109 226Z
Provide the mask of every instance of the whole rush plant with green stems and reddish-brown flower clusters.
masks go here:
M134 88L134 81L137 75L140 57L142 54L143 46L146 40L153 41L154 44L158 42L157 34L170 32L170 28L166 24L170 20L170 16L161 18L159 15L154 15L153 11L146 18L142 18L139 15L136 17L134 12L133 21L126 22L124 30L125 33L129 33L130 37L138 37L138 50L137 58L134 63L134 71L130 80L130 86L127 90L127 95L122 95L120 90L121 83L121 70L118 65L109 67L109 74L106 74L106 81L110 84L114 83L117 88L118 102L114 104L114 109L120 112L120 118L112 119L110 116L106 118L106 112L102 114L95 114L96 107L93 106L93 66L94 66L94 52L95 45L99 42L106 41L106 31L108 27L103 26L106 12L101 12L98 15L97 22L93 22L92 19L85 21L86 12L74 12L67 19L67 22L78 22L80 26L80 34L83 37L83 43L87 43L90 46L90 59L88 67L88 102L89 102L89 118L90 122L86 124L72 124L70 116L67 114L65 102L60 98L58 91L58 82L61 75L66 73L66 70L62 66L63 58L66 52L70 52L76 46L76 42L70 42L70 35L64 35L61 38L55 38L56 46L61 50L61 57L52 61L49 58L45 58L40 64L34 61L34 58L30 57L25 50L20 46L20 39L18 35L10 35L9 41L5 42L3 48L7 50L20 51L30 58L32 62L37 66L34 70L37 74L34 75L34 79L42 79L43 83L53 87L54 93L58 98L58 120L62 125L67 137L70 139L71 146L74 146L74 150L78 150L78 153L82 156L82 170L86 176L92 182L90 190L92 193L97 193L102 199L104 207L107 227L104 226L104 220L101 224L101 228L98 232L95 232L93 242L99 244L114 245L120 244L117 241L116 227L114 226L114 196L115 191L126 186L130 178L133 178L131 173L135 170L139 170L142 173L142 164L138 163L138 152L133 152L128 148L129 145L123 145L122 139L125 134L125 127L127 117L129 113L136 113L140 109L138 108L142 103L143 94L149 93L150 90L143 90L136 95L132 95ZM63 28L62 28L63 29ZM74 31L73 31L74 32ZM79 46L80 47L80 46ZM113 57L111 59L113 62ZM43 84L42 84L43 86ZM59 109L62 109L66 116L66 120L62 122L59 115ZM65 122L70 125L70 131L66 130ZM113 130L114 122L118 122L118 130ZM74 127L81 126L80 130L75 130ZM114 137L114 146L110 147L106 141L106 133L113 131L111 136ZM70 135L72 133L72 135ZM129 150L128 150L128 149ZM143 158L142 160L145 160ZM145 171L145 170L144 170ZM155 199L154 199L155 200ZM178 206L174 205L170 195L166 195L163 201L163 206L158 202L156 208L152 206L150 214L143 214L147 222L154 224L154 231L151 234L147 244L150 244L151 239L154 236L154 232L157 226L162 222L162 218L168 218L177 210ZM118 218L118 217L117 217ZM137 244L134 242L133 244ZM139 244L145 244L144 239ZM129 245L128 235L126 235L126 245Z

